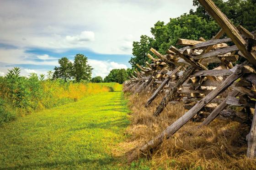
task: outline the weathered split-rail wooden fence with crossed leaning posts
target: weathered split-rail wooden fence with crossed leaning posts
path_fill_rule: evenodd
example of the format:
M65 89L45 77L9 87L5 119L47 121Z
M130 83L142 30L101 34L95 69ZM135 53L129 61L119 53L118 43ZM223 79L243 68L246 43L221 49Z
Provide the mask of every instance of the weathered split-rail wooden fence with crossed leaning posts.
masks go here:
M140 72L126 82L124 91L132 93L151 92L152 96L145 103L148 107L160 93L165 93L153 113L159 116L167 104L182 100L188 110L181 118L167 127L155 139L144 144L139 150L146 153L154 150L165 138L170 138L190 119L203 119L207 125L219 115L219 118L231 118L251 126L247 135L247 156L256 156L256 34L242 26L235 27L214 5L212 0L198 0L222 28L212 40L199 41L179 39L177 49L171 46L167 55L161 55L155 49L150 51L157 59L148 54L152 61L148 67L139 66ZM226 33L229 38L219 39ZM235 63L238 57L246 59L242 64ZM213 63L213 64L212 64ZM219 63L219 64L216 64ZM213 69L208 70L212 64ZM218 66L218 67L217 67ZM225 109L227 106L239 106L239 112ZM205 119L204 119L205 118Z

